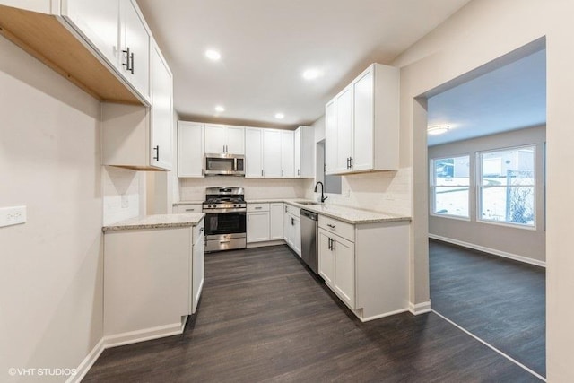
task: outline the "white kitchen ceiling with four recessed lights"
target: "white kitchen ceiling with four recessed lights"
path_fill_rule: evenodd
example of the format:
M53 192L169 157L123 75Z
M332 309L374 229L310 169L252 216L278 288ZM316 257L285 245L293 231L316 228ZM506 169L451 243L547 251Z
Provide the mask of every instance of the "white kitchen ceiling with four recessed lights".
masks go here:
M186 119L309 125L372 62L390 63L469 0L137 0ZM221 51L220 62L204 57ZM301 74L318 67L313 82ZM225 111L216 115L215 105ZM277 120L274 114L283 112Z

